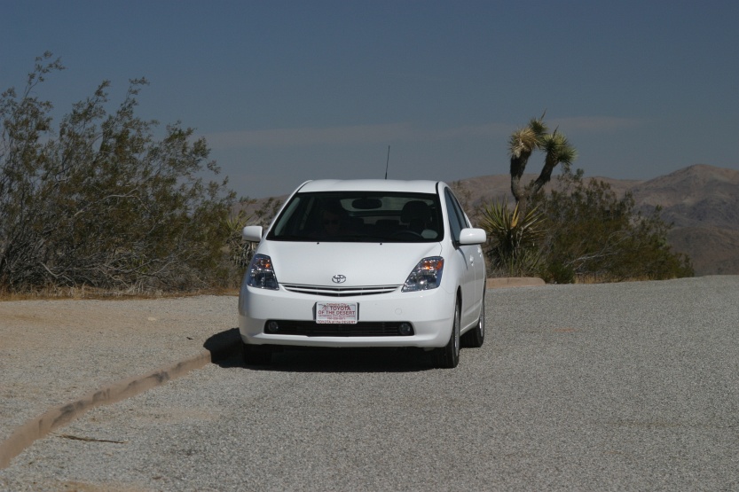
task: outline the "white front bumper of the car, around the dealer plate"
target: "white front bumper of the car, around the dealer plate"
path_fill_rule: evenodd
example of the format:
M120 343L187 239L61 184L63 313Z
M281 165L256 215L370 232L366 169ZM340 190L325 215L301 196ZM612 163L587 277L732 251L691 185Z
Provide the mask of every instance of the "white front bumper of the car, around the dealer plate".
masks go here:
M410 336L325 336L272 334L265 332L270 320L290 320L312 324L317 302L356 302L358 321L364 323L409 323ZM242 286L239 298L239 330L241 340L254 345L287 345L302 347L444 347L452 333L455 296L436 289L402 293L350 296L337 299L319 295L290 293Z

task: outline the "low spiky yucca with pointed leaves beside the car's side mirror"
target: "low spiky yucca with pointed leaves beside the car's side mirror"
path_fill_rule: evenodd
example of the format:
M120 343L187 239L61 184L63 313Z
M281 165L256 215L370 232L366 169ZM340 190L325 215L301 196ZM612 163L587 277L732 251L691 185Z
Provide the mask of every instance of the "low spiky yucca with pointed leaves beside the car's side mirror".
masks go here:
M536 208L522 217L518 204L513 210L507 201L483 204L479 223L490 242L488 267L492 275L530 277L538 273L544 238L542 219Z

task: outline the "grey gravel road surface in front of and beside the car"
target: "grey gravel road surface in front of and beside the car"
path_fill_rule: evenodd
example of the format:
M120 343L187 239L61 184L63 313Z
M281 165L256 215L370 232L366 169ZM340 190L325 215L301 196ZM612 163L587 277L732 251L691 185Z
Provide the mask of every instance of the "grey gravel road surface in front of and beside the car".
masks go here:
M0 488L737 490L737 293L491 290L455 370L376 350L209 364L36 441Z

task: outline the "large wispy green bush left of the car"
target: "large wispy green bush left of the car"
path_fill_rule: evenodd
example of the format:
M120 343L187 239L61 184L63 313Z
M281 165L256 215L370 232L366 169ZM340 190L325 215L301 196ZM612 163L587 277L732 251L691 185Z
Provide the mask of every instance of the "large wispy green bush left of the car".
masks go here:
M144 79L108 112L107 88L73 105L55 131L52 105L35 96L63 67L36 59L20 95L0 96L0 287L91 285L135 292L215 285L233 194L208 145L180 123L135 115Z

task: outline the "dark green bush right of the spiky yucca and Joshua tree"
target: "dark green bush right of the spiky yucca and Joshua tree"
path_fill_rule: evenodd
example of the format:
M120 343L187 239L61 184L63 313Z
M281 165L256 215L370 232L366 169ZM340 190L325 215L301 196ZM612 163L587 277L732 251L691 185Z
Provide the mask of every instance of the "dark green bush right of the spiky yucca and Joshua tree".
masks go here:
M558 190L535 199L549 224L542 249L542 277L547 282L693 275L689 259L667 245L670 226L659 209L642 215L634 210L630 193L619 199L609 184L586 183L582 176L582 170L565 171Z

